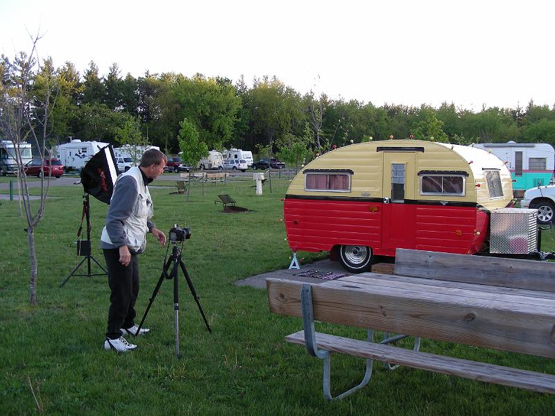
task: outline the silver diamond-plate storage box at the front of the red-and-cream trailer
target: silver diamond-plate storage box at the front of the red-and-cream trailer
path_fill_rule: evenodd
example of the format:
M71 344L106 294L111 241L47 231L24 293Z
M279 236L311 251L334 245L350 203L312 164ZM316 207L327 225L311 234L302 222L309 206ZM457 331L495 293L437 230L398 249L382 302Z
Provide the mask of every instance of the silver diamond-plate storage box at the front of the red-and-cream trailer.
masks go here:
M538 245L537 209L493 209L490 216L490 252L528 254Z

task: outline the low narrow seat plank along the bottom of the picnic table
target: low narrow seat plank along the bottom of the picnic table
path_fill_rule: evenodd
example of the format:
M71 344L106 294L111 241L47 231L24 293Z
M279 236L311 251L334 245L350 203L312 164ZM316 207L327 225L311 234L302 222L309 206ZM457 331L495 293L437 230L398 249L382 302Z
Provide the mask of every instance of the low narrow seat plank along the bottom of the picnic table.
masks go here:
M304 345L305 333L304 331L292 333L285 337L285 340L289 343ZM384 363L400 364L420 370L555 394L555 376L551 374L478 363L427 352L416 352L411 349L367 343L326 333L316 333L316 345L327 351L371 358Z

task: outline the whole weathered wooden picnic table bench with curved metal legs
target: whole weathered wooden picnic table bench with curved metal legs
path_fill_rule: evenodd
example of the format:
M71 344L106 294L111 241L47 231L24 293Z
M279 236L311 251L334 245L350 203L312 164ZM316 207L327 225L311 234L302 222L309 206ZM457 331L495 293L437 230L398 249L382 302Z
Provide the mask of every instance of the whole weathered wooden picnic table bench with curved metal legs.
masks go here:
M398 249L393 275L366 272L322 284L266 279L266 286L272 312L302 318L304 331L285 340L323 359L326 399L366 385L373 360L555 394L552 374L419 350L423 337L555 358L554 272L543 261ZM366 341L316 332L314 320L366 328ZM374 330L384 340L375 343ZM416 337L413 349L391 345L407 336ZM332 353L366 359L361 383L337 397Z

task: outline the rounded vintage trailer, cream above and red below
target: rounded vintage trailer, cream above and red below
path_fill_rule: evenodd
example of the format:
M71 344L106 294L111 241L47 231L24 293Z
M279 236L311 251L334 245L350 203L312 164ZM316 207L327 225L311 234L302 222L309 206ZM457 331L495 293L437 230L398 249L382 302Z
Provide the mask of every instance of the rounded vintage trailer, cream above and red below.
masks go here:
M474 254L490 211L511 205L511 173L479 148L418 140L370 141L307 164L284 201L293 252L330 251L351 272L396 248Z

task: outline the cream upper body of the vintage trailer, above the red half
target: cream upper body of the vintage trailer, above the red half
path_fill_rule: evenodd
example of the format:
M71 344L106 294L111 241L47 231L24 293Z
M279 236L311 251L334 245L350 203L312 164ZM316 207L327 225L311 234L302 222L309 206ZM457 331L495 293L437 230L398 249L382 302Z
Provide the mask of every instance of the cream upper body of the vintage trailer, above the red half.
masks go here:
M291 182L288 194L384 198L386 197L383 189L384 155L388 154L388 161L395 162L395 156L391 153L398 155L399 162L402 164L407 164L407 161L401 160L402 155L414 155L413 158L409 157L409 162L414 164L414 168L411 169L413 175L407 177L407 188L412 189L411 199L445 200L445 195L422 193L420 177L425 174L456 173L464 177L464 191L460 195L450 195L449 199L458 202L475 202L486 209L505 207L511 200L511 193L507 192L511 187L509 171L495 156L488 155L484 150L467 146L418 140L373 141L332 150L307 164ZM493 203L491 203L492 198L489 196L485 177L485 172L488 170L499 172L503 189L502 198L495 197ZM338 173L345 171L345 176L348 176L349 180L348 187L345 187L347 189L341 189L341 191L310 189L307 184L307 173L325 175L331 171Z

